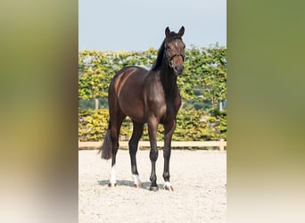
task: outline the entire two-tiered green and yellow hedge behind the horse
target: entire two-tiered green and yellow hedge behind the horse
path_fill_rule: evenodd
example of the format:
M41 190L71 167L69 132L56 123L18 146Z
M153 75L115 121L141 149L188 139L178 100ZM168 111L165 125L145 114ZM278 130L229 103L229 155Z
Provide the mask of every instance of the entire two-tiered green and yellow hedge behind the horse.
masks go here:
M227 49L211 45L209 48L191 47L185 51L185 72L177 78L183 98L183 109L177 114L177 128L173 140L197 141L227 138L227 111L218 111L218 102L227 99ZM144 52L78 53L78 106L94 107L94 100L106 102L108 87L116 71L136 65L150 69L157 58L157 50ZM102 105L106 108L107 106ZM78 111L80 141L101 141L108 127L108 110ZM132 122L124 121L121 139L132 134ZM144 140L148 140L144 127ZM163 128L158 129L158 140L163 139Z

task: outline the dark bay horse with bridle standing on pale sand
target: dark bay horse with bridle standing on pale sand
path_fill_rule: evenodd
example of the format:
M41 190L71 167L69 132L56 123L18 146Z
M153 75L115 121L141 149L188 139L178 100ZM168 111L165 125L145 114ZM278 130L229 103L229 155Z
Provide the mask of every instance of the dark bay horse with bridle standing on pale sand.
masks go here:
M133 121L133 134L128 145L135 186L142 186L136 168L136 151L143 135L144 123L147 123L151 145L149 157L152 161L150 190L158 190L155 172L158 159L156 136L161 123L164 126L164 188L173 190L169 182L169 157L171 137L176 128L177 111L181 105L177 76L184 70L185 44L181 38L184 32L184 27L181 27L178 33L171 32L169 28L165 29L165 39L152 70L129 66L118 71L111 80L108 93L110 121L100 149L103 159L112 158L109 186L116 186L115 163L120 127L126 116L129 116Z

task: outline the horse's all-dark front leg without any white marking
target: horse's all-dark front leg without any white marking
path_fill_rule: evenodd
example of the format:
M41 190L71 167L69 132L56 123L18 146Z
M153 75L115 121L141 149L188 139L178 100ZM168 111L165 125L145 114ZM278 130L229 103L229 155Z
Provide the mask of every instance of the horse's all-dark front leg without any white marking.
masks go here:
M151 191L158 191L157 185L157 176L156 176L156 161L158 159L158 148L157 148L157 128L158 128L158 121L157 120L150 120L148 122L148 135L149 141L151 145L151 151L149 153L149 158L152 162L152 172L151 172Z

